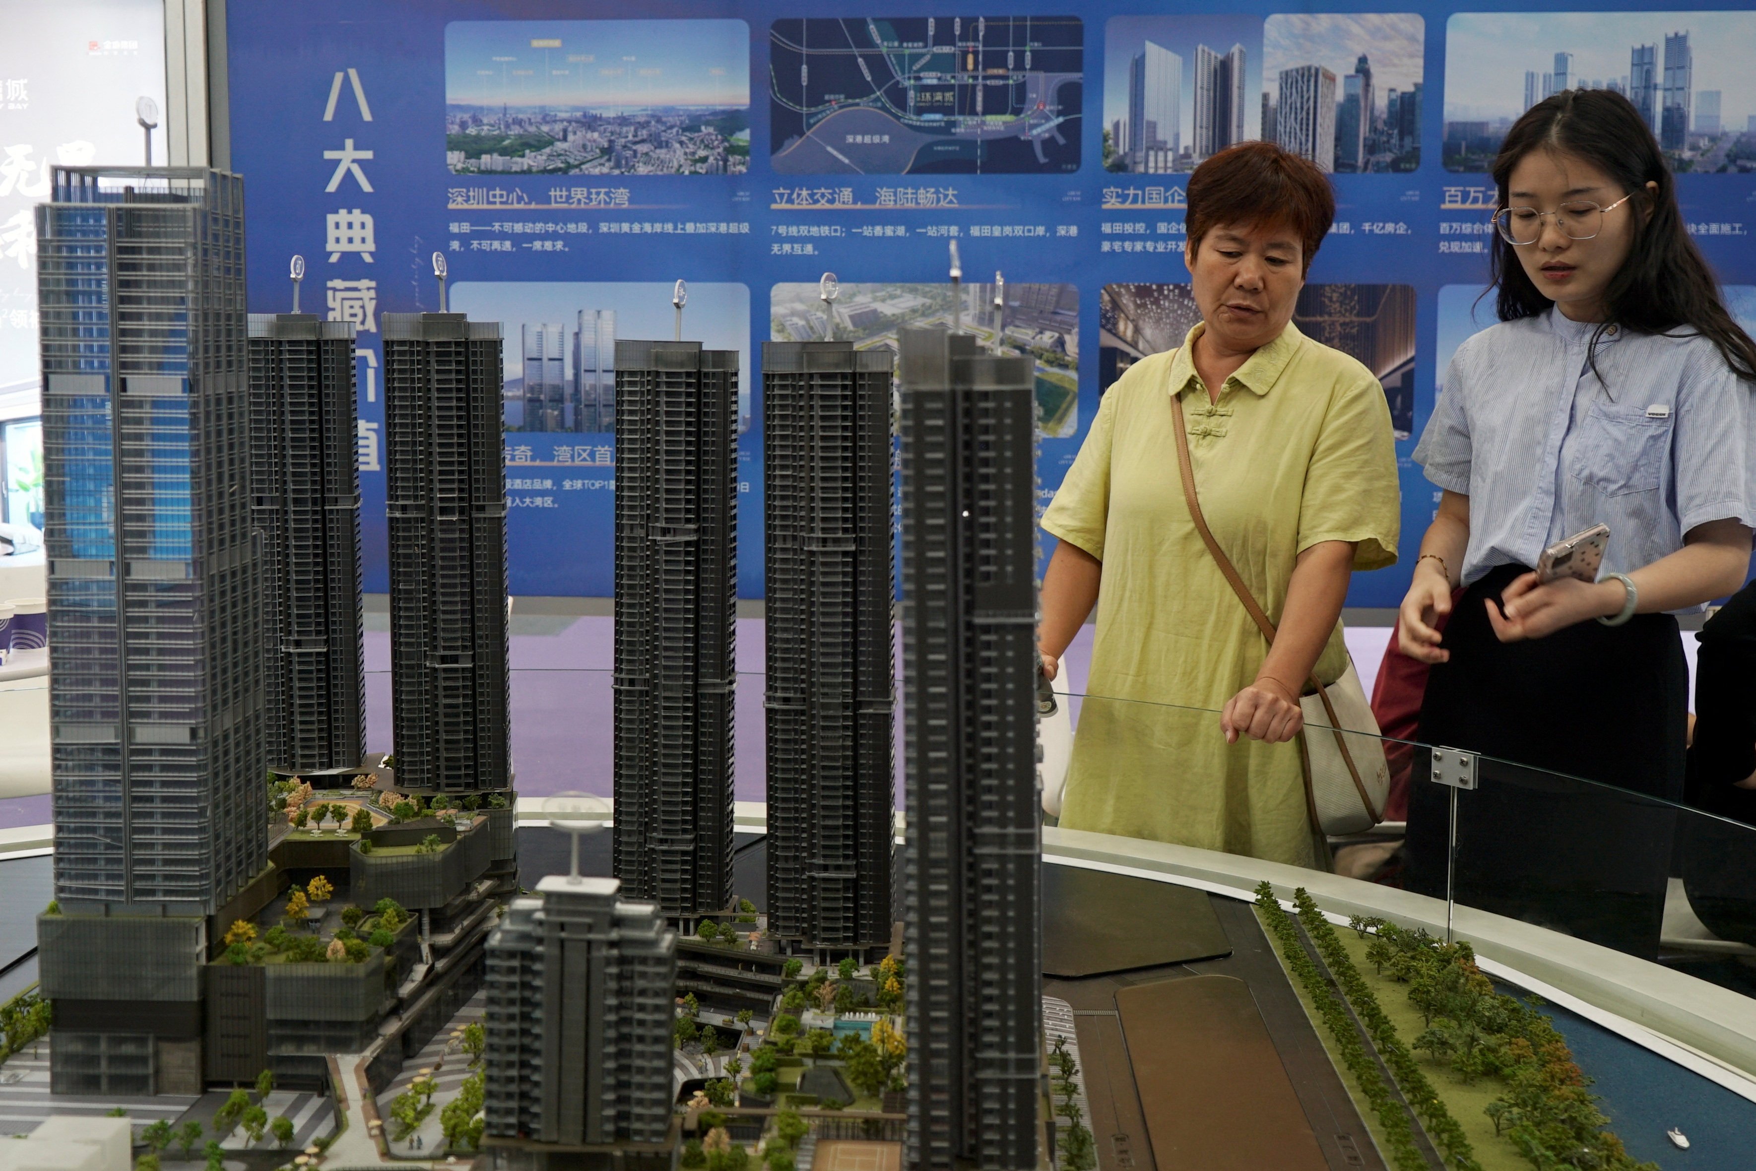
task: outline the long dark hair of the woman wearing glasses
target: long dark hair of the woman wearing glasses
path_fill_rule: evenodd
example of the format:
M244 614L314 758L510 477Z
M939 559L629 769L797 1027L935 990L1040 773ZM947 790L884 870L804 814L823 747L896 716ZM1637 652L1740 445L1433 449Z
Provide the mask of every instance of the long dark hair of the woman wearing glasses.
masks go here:
M1719 281L1682 223L1677 181L1665 165L1652 130L1635 104L1608 90L1565 90L1529 107L1494 158L1500 207L1507 205L1512 169L1531 151L1566 151L1631 191L1630 209L1645 212L1628 260L1603 290L1605 321L1637 334L1700 334L1714 342L1733 374L1756 379L1756 342L1751 342L1719 298ZM1658 184L1649 191L1647 183ZM1512 244L1491 235L1493 272L1501 321L1535 318L1554 304L1524 272ZM1596 351L1596 346L1593 346Z

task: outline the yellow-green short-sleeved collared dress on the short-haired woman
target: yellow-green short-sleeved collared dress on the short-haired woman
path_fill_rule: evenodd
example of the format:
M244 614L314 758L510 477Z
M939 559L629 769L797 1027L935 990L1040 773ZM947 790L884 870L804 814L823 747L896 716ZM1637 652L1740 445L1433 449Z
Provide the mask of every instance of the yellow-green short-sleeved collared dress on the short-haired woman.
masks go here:
M1189 360L1203 328L1110 386L1043 514L1103 562L1061 825L1310 866L1298 743L1220 732L1219 709L1256 679L1268 641L1189 516L1169 395L1182 395L1208 527L1277 625L1303 550L1356 541L1356 571L1396 562L1391 413L1364 365L1292 325L1213 404ZM1338 678L1345 655L1336 623L1317 678Z

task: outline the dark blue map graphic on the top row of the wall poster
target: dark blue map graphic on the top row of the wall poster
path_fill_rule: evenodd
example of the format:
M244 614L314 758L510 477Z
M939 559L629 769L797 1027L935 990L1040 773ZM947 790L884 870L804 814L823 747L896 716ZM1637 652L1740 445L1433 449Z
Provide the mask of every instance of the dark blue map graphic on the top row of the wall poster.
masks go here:
M1064 174L1080 167L1071 16L785 19L769 40L780 174Z

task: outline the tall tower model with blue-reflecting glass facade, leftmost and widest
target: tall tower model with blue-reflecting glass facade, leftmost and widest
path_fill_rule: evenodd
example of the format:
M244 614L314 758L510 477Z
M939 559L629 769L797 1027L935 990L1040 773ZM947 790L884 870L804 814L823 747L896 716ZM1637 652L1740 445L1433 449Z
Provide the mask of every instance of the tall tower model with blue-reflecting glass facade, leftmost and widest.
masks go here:
M58 167L37 209L58 1094L200 1092L200 964L267 866L244 184Z

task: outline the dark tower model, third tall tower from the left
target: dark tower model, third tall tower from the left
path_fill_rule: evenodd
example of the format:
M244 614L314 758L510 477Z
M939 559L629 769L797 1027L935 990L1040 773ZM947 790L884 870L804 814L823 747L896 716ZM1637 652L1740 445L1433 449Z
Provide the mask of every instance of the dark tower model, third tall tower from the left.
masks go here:
M390 685L400 788L511 787L500 325L386 313Z

